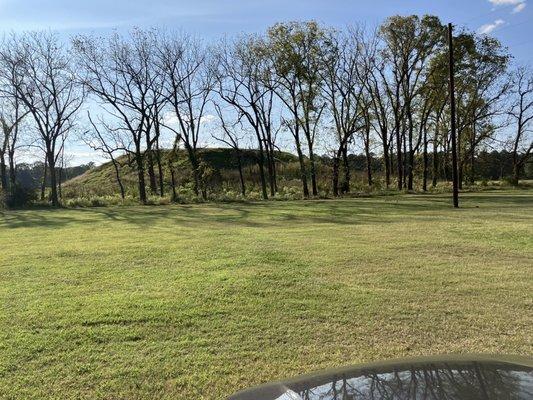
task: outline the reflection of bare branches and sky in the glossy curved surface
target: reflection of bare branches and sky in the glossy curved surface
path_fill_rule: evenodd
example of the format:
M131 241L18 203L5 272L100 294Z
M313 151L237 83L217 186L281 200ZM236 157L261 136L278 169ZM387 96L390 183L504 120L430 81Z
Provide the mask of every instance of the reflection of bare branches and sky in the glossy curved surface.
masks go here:
M427 364L390 371L361 371L358 376L332 376L331 381L304 387L296 383L297 400L529 400L533 372L527 367L496 363Z

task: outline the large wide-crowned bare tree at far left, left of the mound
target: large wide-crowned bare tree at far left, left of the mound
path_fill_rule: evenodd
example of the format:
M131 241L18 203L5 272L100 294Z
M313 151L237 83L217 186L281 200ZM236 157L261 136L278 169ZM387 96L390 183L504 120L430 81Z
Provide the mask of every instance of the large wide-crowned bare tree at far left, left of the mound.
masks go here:
M83 103L70 54L58 37L48 32L13 35L0 54L3 77L33 119L45 149L53 206L59 206L56 162L62 143L75 124Z

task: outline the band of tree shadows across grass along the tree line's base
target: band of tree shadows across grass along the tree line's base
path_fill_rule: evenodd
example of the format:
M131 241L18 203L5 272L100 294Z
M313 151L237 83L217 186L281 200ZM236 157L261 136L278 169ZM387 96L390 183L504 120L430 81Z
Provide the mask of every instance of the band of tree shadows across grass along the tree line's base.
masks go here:
M465 194L459 210L533 206L530 194ZM106 222L140 228L172 225L188 228L292 228L308 224L362 225L392 223L405 218L445 218L451 209L447 195L406 195L284 202L208 203L171 206L40 209L0 213L0 228L63 228Z

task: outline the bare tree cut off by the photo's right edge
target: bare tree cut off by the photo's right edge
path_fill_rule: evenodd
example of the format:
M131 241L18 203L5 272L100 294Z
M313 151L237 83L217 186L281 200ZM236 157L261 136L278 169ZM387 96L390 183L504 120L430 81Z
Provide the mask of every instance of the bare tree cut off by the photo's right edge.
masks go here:
M518 67L513 73L513 102L509 116L514 122L515 134L511 140L513 155L513 185L518 185L520 172L533 151L533 73L530 68Z

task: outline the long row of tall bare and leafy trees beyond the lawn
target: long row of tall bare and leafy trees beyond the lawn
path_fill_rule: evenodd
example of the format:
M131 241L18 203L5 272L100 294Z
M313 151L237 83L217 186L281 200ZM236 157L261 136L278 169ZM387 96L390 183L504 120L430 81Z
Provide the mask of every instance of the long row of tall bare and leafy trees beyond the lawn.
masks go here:
M279 190L276 158L287 145L306 198L320 195L320 153L331 159L332 193L350 192L356 148L369 186L377 153L387 188L413 190L419 180L426 191L450 165L446 32L435 16L393 16L375 30L286 22L215 43L158 29L68 43L50 32L10 35L0 46L2 188L16 188L16 152L29 146L43 154L59 205L65 143L79 140L109 158L122 196L126 155L146 203L175 192L176 165L161 156L171 138L171 154L185 150L195 195L207 198L199 150L209 134L237 160L257 149L264 199ZM511 153L518 184L533 149L531 69L511 66L492 37L462 29L453 40L460 185L473 183L477 155L494 147Z

